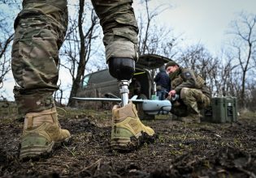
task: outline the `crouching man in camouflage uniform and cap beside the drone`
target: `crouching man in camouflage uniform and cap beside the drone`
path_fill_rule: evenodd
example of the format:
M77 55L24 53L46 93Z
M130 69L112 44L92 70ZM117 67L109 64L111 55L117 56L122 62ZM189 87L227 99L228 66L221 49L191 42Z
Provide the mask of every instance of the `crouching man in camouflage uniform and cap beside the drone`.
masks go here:
M193 70L180 67L175 61L169 61L166 66L171 78L171 91L168 99L176 95L179 99L171 100L171 113L181 117L181 121L200 123L200 109L210 105L210 91L206 82Z

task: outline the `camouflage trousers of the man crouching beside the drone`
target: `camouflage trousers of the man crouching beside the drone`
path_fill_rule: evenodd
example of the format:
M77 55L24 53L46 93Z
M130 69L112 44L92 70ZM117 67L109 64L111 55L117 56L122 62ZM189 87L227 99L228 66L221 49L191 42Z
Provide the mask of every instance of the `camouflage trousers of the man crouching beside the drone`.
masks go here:
M189 113L199 114L202 108L210 105L210 98L201 90L184 87L180 91L180 100L172 103L171 113L178 117L186 117Z

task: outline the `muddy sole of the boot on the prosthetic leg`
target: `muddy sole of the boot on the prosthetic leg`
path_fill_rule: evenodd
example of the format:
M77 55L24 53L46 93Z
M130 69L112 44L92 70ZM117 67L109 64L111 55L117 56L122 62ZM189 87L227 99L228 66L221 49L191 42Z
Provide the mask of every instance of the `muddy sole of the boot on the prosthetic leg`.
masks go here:
M111 138L111 149L120 152L128 152L136 150L144 143L154 142L157 139L157 135L149 135L145 132L141 132L139 136L132 136L131 138Z

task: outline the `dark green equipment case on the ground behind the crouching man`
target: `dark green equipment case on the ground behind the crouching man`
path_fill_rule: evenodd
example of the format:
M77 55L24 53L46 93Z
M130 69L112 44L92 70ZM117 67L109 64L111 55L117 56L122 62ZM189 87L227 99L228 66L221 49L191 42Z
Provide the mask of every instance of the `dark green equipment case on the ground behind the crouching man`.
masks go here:
M203 111L202 121L231 123L237 121L236 97L214 97L211 105Z

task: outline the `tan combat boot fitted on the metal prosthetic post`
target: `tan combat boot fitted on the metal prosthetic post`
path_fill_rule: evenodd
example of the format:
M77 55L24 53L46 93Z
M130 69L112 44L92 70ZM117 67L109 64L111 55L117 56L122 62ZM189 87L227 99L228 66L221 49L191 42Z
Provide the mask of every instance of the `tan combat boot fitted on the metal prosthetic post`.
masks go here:
M154 142L154 130L141 123L135 105L130 101L112 110L111 148L113 150L134 150L144 142Z

